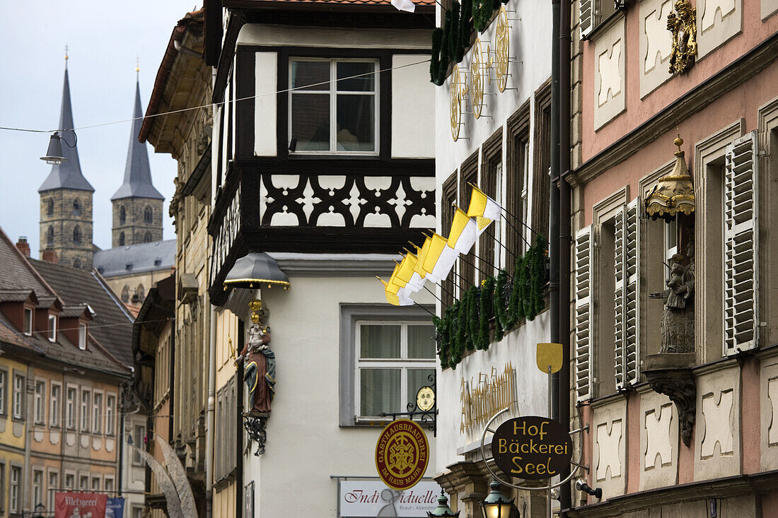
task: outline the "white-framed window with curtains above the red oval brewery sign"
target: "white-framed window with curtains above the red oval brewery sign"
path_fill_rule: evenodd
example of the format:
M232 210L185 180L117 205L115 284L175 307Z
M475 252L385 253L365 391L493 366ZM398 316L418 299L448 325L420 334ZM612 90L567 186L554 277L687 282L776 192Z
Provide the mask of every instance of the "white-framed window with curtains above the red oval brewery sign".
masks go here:
M360 418L405 411L435 373L435 329L429 324L356 323L356 411Z

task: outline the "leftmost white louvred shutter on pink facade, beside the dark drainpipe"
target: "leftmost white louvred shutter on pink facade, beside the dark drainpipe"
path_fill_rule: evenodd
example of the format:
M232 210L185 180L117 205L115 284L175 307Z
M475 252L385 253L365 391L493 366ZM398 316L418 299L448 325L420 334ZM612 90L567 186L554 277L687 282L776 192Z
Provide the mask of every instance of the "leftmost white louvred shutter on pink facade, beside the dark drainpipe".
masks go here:
M591 226L575 240L575 387L577 401L592 397L591 383Z

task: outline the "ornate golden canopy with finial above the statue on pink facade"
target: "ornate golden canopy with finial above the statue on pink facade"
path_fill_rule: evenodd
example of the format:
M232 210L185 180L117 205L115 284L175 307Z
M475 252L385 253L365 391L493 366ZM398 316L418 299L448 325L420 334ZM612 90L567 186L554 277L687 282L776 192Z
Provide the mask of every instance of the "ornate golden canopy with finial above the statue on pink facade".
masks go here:
M694 212L694 186L689 169L686 167L684 152L681 150L683 139L678 135L673 142L678 146L675 152L673 170L657 180L645 200L646 214L651 219L661 218L666 222L675 219L679 212L691 215Z

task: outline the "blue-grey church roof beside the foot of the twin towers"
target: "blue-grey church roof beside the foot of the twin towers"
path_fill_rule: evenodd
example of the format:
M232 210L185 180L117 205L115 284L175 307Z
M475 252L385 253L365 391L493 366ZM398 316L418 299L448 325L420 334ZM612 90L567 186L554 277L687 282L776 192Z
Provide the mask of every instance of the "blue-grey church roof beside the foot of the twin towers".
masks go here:
M137 243L94 253L92 264L103 277L137 274L172 268L176 262L176 240Z

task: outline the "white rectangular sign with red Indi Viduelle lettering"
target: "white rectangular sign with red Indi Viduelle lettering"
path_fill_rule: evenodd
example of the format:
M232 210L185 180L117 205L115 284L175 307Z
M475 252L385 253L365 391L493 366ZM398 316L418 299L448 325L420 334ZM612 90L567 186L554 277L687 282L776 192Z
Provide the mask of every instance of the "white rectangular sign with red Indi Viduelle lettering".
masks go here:
M371 516L426 517L437 507L440 486L433 481L420 481L411 489L398 491L387 488L378 480L344 480L338 499L342 518Z

